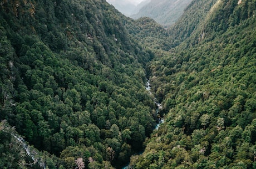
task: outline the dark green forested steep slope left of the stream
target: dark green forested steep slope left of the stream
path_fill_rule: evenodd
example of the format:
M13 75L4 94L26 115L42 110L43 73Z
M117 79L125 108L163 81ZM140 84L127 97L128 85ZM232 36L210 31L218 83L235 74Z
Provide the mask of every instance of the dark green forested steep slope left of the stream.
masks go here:
M155 126L150 50L106 1L0 4L0 168L120 168Z

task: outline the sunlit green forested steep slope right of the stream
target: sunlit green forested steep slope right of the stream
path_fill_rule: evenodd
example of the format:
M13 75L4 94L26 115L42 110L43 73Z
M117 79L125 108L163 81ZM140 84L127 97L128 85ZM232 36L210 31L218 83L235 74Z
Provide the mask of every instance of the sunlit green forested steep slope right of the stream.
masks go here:
M193 16L201 4L208 8ZM255 7L218 0L186 9L190 18L172 29L183 43L150 65L164 124L132 168L256 167Z

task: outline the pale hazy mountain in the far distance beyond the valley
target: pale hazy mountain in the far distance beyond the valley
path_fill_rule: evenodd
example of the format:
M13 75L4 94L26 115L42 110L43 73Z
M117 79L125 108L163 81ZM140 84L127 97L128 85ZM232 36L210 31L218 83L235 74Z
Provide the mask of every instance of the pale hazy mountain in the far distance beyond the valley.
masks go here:
M141 7L139 12L133 14L131 17L134 19L149 17L165 27L170 27L170 25L174 24L181 14L183 14L183 10L190 2L191 0L151 0L149 3L145 4L145 6Z

